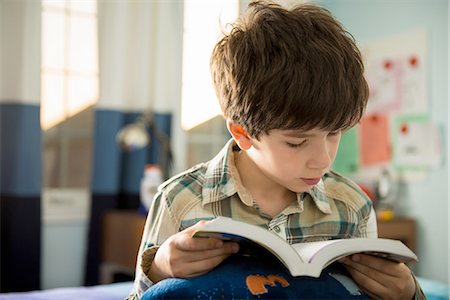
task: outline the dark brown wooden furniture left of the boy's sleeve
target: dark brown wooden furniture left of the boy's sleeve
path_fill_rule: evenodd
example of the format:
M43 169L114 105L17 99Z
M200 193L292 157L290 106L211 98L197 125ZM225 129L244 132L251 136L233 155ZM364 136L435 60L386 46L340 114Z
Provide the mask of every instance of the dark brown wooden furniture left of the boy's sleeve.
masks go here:
M145 225L136 211L112 210L102 218L100 283L112 283L115 273L133 275Z

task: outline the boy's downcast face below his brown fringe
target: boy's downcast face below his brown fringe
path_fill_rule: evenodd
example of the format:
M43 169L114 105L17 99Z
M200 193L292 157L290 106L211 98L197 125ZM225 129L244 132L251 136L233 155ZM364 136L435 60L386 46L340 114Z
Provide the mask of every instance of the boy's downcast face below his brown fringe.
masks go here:
M246 152L274 183L293 192L316 185L336 157L341 132L323 130L271 130L259 140L250 138Z

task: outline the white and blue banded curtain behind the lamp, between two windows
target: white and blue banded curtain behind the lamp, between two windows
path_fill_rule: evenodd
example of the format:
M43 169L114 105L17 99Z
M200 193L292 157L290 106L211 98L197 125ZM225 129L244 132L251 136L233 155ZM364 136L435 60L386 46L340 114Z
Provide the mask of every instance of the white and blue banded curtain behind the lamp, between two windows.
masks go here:
M145 111L171 135L181 90L183 1L98 2L100 96L95 112L92 205L85 283L99 275L102 214L136 209L147 163L158 163L158 142L123 152L117 132Z

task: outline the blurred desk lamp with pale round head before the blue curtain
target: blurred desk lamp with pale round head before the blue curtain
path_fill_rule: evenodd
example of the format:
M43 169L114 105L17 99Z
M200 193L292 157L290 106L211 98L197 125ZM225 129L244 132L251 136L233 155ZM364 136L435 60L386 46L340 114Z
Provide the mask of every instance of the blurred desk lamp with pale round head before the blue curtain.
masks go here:
M155 124L155 115L148 111L139 116L134 123L121 128L116 135L116 141L123 151L132 152L150 145L151 137L159 142L159 165L165 179L169 177L172 163L170 137L159 130Z

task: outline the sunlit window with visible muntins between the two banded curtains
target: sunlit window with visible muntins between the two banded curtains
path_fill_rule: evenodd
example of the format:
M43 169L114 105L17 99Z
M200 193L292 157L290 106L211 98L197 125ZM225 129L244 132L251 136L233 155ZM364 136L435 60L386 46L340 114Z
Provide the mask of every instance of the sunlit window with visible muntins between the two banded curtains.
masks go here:
M98 99L97 2L42 1L44 188L89 188Z

